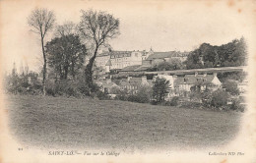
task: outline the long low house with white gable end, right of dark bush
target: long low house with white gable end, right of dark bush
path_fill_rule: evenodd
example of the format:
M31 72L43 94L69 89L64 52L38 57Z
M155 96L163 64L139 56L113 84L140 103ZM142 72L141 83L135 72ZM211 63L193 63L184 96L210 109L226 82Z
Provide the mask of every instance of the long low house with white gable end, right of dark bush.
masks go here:
M222 86L222 82L218 79L217 73L213 75L185 75L184 77L175 77L174 79L174 92L182 94L190 92L193 88L198 88L200 91L206 89L216 90Z

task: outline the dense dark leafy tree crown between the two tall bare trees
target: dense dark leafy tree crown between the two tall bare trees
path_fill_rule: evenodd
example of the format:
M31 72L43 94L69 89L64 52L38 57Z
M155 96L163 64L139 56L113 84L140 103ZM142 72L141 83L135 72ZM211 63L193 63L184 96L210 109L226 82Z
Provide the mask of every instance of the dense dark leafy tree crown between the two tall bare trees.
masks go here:
M85 62L87 49L79 36L74 34L56 37L47 42L46 53L49 66L53 68L58 79L75 79L76 74Z

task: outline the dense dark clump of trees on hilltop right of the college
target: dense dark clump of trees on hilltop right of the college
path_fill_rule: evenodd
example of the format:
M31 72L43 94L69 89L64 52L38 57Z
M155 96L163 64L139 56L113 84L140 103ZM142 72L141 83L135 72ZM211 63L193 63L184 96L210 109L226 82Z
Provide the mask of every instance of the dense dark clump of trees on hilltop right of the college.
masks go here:
M187 69L243 66L246 62L246 48L243 37L221 46L202 43L190 52L185 64Z

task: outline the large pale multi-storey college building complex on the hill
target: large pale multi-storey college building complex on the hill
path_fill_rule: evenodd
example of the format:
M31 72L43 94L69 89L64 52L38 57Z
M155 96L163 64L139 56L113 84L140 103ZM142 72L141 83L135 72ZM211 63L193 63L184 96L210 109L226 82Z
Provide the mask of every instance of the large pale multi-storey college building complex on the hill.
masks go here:
M96 67L102 68L105 73L110 70L122 70L127 67L141 66L136 71L145 71L163 61L178 58L181 62L187 58L187 52L168 51L107 51L96 56Z

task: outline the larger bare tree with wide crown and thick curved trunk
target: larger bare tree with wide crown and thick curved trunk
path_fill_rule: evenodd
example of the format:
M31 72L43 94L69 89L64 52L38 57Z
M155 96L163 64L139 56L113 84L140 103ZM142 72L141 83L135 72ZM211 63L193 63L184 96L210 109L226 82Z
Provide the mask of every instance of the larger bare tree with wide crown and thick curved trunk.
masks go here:
M91 40L91 43L94 45L92 57L90 58L85 71L86 82L91 88L91 91L94 91L92 70L97 51L101 46L106 46L109 39L112 39L119 34L119 20L105 12L82 10L79 30L81 35L84 38Z

